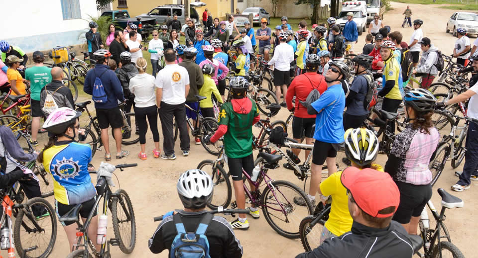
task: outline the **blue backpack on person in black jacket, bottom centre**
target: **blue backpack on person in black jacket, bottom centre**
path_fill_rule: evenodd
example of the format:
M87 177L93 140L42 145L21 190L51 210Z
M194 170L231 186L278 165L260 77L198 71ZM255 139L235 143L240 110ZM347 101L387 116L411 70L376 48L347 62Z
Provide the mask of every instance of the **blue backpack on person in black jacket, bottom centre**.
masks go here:
M210 258L209 241L205 233L209 223L213 219L211 213L206 213L196 229L196 232L186 233L181 215L173 215L173 222L176 226L176 237L171 244L170 258Z

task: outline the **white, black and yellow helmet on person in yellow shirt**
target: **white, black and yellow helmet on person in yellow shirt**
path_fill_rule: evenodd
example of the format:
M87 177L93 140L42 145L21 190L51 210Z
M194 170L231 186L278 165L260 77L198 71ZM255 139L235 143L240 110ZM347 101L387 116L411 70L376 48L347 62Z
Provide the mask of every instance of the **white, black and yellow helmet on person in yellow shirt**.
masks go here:
M345 154L347 159L363 167L377 158L378 139L366 128L350 128L345 132Z

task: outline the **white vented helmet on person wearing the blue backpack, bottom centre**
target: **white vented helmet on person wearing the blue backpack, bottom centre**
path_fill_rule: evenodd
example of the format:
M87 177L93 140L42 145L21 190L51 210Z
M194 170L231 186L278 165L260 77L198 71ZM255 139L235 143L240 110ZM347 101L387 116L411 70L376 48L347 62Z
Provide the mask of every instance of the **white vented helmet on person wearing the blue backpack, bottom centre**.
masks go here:
M188 170L181 174L176 188L184 208L204 208L213 197L213 180L202 170Z

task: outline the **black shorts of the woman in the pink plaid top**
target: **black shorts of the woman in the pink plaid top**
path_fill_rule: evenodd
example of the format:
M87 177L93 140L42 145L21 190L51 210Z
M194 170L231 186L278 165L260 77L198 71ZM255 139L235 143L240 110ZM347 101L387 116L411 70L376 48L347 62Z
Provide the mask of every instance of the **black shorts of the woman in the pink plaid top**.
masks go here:
M415 185L395 181L400 191L400 204L393 215L393 220L407 224L412 217L420 217L423 208L432 197L430 184Z

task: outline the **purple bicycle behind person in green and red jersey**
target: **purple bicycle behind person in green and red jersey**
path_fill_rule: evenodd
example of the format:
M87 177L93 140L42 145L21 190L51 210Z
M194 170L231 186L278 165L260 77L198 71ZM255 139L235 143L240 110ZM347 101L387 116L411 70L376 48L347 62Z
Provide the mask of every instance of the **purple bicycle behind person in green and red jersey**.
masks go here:
M222 152L223 150L221 150ZM297 231L299 226L299 218L312 214L312 203L307 197L307 194L297 185L284 180L273 180L267 171L269 169L279 168L279 161L282 159L280 155L268 154L260 152L257 159L254 161L255 166L259 166L260 172L256 181L252 181L249 174L242 170L243 187L246 198L249 202L258 208L262 209L265 220L279 235L286 238L299 238ZM217 201L217 196L226 197L223 203L216 205L208 203L207 206L211 209L216 209L219 206L228 207L231 204L233 209L237 208L236 202L231 203L232 190L229 175L224 171L223 165L227 157L222 153L221 158L216 161L206 160L198 165L198 169L203 170L206 165L212 166L211 176L214 182L213 201ZM249 181L255 187L254 191L249 191L245 181ZM259 190L261 186L265 185L262 192ZM222 191L221 191L222 190ZM226 190L227 192L224 192ZM299 206L294 203L294 197L299 197L304 200L306 206ZM274 221L274 218L277 221ZM279 225L280 224L280 225Z

